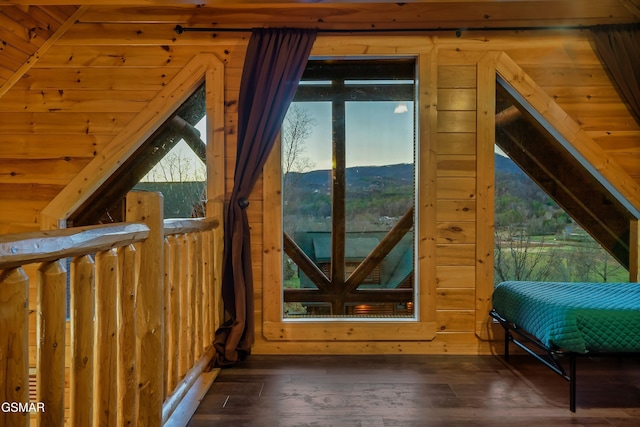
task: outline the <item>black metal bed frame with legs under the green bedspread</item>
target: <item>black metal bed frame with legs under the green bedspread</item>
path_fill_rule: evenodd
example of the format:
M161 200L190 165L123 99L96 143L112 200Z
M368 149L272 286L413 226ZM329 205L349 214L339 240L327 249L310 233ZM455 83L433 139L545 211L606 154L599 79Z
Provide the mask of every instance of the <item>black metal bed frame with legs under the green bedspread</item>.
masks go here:
M545 346L533 335L518 328L517 325L509 322L502 316L500 316L495 310L491 310L489 313L491 317L496 319L500 325L504 328L504 359L509 361L509 341L538 359L540 362L548 366L553 372L560 375L562 378L569 382L569 410L576 412L576 364L577 358L580 353L572 351L553 350ZM518 338L514 337L514 333ZM536 353L528 345L542 350L544 354ZM568 356L569 358L569 372L560 364L558 358L561 356Z

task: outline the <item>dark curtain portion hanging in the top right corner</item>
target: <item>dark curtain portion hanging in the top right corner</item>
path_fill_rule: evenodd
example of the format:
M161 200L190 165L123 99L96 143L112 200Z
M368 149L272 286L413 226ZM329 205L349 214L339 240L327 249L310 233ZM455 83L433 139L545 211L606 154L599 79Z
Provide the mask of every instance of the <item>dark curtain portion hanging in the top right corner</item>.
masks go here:
M591 27L600 58L640 123L640 24Z

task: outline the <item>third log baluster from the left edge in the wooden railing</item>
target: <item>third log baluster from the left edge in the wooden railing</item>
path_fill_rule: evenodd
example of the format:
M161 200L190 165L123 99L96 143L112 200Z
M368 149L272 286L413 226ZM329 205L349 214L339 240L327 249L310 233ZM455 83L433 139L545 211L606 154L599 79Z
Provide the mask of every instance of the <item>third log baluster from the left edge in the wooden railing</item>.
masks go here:
M69 424L72 426L86 426L93 422L94 267L89 255L78 257L71 263Z

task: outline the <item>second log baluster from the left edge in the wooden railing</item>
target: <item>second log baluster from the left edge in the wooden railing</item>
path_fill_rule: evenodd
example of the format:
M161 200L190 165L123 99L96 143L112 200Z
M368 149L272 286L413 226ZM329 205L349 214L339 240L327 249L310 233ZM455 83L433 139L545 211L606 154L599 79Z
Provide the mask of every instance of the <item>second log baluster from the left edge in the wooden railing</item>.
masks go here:
M41 426L64 425L64 353L67 320L67 271L61 261L44 263L37 283L37 399Z

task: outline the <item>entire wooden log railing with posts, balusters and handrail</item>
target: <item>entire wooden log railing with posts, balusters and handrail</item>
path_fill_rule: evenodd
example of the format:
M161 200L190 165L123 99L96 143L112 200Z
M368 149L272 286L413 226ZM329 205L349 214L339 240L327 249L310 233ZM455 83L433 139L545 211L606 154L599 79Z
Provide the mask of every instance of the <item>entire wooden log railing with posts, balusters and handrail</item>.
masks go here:
M0 425L167 421L213 356L220 231L162 212L130 193L127 223L0 236Z

